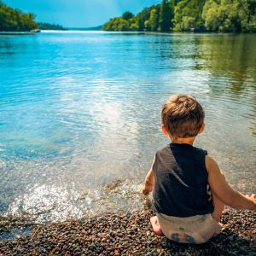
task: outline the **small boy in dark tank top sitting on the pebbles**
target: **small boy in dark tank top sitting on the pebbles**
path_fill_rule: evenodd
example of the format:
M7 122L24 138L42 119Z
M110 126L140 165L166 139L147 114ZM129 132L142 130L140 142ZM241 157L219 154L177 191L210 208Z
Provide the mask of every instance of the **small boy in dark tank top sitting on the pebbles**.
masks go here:
M163 106L162 131L172 143L157 151L143 194L153 190L155 233L172 241L204 243L221 230L224 205L256 210L256 195L230 188L207 151L195 148L204 131L204 110L192 96L172 96Z

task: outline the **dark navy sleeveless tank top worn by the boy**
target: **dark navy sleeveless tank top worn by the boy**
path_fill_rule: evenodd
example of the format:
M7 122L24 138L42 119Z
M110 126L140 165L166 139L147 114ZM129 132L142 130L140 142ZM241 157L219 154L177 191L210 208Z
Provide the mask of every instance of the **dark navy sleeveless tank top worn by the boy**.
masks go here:
M154 211L175 217L212 213L208 193L207 151L171 143L155 154Z

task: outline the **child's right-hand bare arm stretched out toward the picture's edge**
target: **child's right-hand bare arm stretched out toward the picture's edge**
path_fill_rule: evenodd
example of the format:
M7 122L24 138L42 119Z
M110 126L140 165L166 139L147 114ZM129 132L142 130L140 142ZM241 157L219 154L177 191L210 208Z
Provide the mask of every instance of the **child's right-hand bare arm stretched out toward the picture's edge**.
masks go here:
M206 156L206 166L211 191L220 201L235 209L256 210L256 196L254 194L251 196L242 195L232 189L220 172L218 164L210 156Z

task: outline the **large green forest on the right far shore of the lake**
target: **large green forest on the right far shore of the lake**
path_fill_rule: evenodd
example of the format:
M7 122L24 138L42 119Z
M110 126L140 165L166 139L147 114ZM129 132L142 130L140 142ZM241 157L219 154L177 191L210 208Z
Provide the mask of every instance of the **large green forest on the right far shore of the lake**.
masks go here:
M126 11L105 31L256 32L255 0L163 0L137 15Z

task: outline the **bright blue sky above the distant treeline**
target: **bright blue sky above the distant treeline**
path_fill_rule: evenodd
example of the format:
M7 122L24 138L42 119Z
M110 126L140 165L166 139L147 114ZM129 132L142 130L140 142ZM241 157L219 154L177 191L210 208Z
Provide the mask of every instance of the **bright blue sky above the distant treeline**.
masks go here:
M137 14L161 0L3 0L23 12L37 15L37 21L66 27L98 26L126 10Z

